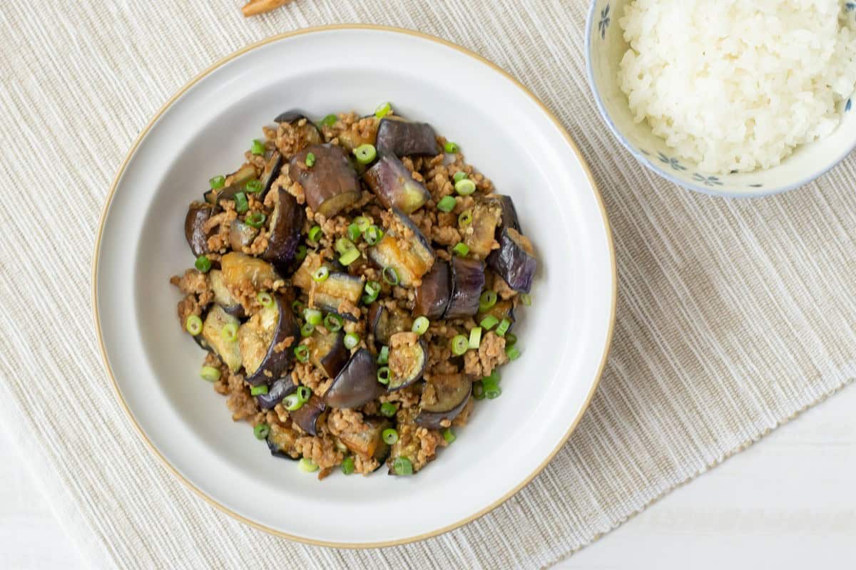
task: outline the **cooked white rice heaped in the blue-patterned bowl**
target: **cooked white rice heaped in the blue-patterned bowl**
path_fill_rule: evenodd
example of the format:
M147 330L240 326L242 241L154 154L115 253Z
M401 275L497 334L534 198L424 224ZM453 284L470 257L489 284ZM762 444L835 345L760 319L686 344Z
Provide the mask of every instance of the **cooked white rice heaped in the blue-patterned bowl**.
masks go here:
M772 167L824 138L856 85L844 0L635 0L619 81L638 122L705 173ZM854 111L856 112L856 111Z

